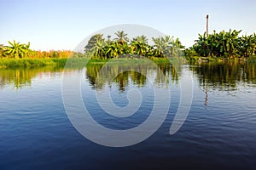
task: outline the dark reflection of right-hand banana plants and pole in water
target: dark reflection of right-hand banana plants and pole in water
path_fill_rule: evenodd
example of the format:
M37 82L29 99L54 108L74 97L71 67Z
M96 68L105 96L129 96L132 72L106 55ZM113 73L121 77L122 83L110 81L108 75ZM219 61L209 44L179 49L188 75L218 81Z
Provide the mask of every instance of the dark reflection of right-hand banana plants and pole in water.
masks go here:
M203 63L190 65L190 70L198 78L199 85L205 90L205 105L208 105L208 91L232 92L256 87L256 65L246 62Z

